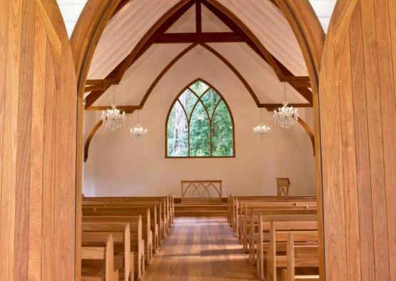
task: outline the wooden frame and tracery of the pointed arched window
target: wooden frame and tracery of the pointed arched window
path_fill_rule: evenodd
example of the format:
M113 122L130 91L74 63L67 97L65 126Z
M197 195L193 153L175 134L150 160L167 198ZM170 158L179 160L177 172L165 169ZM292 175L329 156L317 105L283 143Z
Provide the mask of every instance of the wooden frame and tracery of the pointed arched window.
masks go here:
M171 103L171 106L169 107L168 114L166 115L165 136L168 136L168 134L167 134L168 133L168 121L169 121L169 116L171 116L171 111L173 109L173 106L178 102L178 98L183 94L183 92L186 91L187 89L189 89L190 86L193 85L193 83L196 83L198 81L202 81L203 83L208 85L209 88L204 93L202 93L201 96L197 96L198 100L196 101L196 105L194 106L194 108L196 108L196 106L198 105L199 102L201 102L203 104L203 106L205 107L204 103L201 100L201 97L204 96L205 93L208 92L210 89L213 89L215 91L215 93L217 93L218 96L220 96L220 100L218 101L218 104L220 103L220 101L223 101L225 106L227 106L228 113L230 113L231 123L233 125L233 155L231 155L231 156L213 156L213 155L210 155L210 156L191 156L191 155L188 155L186 157L185 156L181 156L181 157L168 156L168 138L166 138L166 141L165 141L165 158L171 158L171 159L173 159L173 158L183 158L183 159L184 158L235 158L235 123L234 123L233 113L231 112L231 108L230 108L230 106L228 106L227 101L225 101L224 96L218 91L217 88L215 88L211 83L208 83L208 81L205 81L203 78L196 78L195 80L193 80L190 83L188 83L187 86L185 86L183 88L183 90L181 90L177 94L176 98L173 99L173 101ZM195 92L193 91L193 93L195 93ZM215 114L215 111L216 111L216 108L217 108L218 104L216 105L216 107L213 110L212 118L210 118L209 114L208 114L208 119L209 119L209 122L210 122L210 129L212 128L212 124L211 124L210 119L213 119L213 116ZM182 107L183 107L183 105L182 105ZM191 116L192 116L192 114L194 112L194 108L193 108L193 111L191 111ZM205 110L206 110L206 108L205 108ZM183 111L186 114L186 118L188 118L186 109L184 107L183 107ZM206 112L206 113L208 113L208 112ZM190 132L190 122L189 121L188 121L188 132ZM210 132L211 132L211 130L210 130ZM210 133L210 146L212 144L211 138L212 138L212 135ZM190 133L188 133L188 150L190 150ZM211 150L211 148L210 148L210 150ZM190 152L188 152L188 153L190 153Z

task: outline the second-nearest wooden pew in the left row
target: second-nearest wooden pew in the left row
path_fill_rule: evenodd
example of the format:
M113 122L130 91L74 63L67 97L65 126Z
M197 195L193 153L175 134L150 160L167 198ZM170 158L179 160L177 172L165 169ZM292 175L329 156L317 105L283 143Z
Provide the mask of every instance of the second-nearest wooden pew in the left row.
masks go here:
M118 272L122 272L123 280L129 281L130 278L134 280L133 274L133 252L131 252L131 228L129 223L111 223L104 225L102 223L83 223L81 225L82 235L81 242L84 246L100 246L106 243L108 235L113 237L114 244L114 255L115 260L120 257L123 259L120 265L114 266L118 269ZM121 248L118 249L118 245Z

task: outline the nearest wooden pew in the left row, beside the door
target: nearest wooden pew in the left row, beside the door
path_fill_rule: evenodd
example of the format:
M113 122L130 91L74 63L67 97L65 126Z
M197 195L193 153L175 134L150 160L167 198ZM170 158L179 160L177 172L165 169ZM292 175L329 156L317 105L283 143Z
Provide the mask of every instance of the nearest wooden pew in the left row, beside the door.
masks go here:
M81 281L118 281L118 270L114 270L113 236L108 235L104 247L81 247L81 261L102 260L103 270L86 270L82 272Z

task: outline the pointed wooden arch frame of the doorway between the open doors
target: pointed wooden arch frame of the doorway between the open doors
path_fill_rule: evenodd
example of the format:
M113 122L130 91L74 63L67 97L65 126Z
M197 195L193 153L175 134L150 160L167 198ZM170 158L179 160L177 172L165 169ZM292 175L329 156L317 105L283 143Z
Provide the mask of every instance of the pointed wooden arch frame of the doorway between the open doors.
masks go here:
M305 64L310 76L311 88L313 90L313 108L315 123L315 165L316 185L318 195L318 228L320 230L320 276L325 277L325 249L323 235L323 184L322 184L322 160L321 160L321 138L320 138L320 111L319 111L319 73L320 61L323 47L325 45L325 33L320 26L318 16L313 11L308 0L272 0L285 15L298 40L301 51L305 58ZM183 1L186 2L186 1ZM71 48L76 68L77 93L78 93L78 138L77 138L77 170L76 170L76 194L82 193L82 119L83 119L83 91L88 75L88 67L91 65L93 53L103 30L113 16L114 11L121 0L88 0L76 28L71 36ZM76 201L76 259L79 259L81 244L81 198L77 196ZM77 263L76 275L81 271Z

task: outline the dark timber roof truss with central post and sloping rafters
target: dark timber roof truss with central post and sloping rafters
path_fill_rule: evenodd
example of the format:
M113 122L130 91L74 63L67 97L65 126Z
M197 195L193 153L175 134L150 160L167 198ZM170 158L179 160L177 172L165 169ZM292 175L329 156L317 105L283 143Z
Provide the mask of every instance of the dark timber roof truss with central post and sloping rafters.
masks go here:
M121 1L120 6L126 4ZM166 34L166 31L186 12L196 4L196 33L185 34ZM202 32L201 4L204 4L215 16L223 21L233 32L210 33ZM121 9L121 8L120 8ZM119 9L118 9L119 10ZM141 57L141 55L155 43L199 43L208 42L240 42L244 41L253 50L259 54L275 71L280 81L290 83L309 103L312 103L312 92L309 89L310 83L308 77L295 77L285 66L282 65L267 49L261 44L260 40L253 34L248 26L245 26L238 17L236 17L225 6L215 0L184 0L178 2L166 14L161 16L156 24L143 36L133 51L111 71L106 80L120 81L126 70ZM101 86L88 86L85 92L91 91L86 98L86 108L95 103L98 98L111 86L103 83Z

